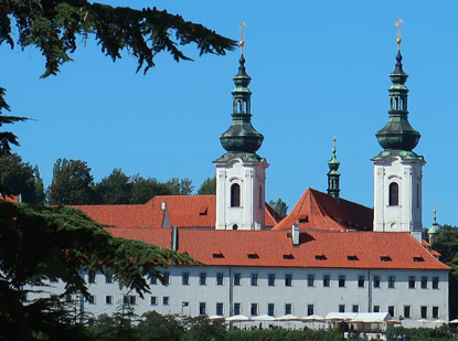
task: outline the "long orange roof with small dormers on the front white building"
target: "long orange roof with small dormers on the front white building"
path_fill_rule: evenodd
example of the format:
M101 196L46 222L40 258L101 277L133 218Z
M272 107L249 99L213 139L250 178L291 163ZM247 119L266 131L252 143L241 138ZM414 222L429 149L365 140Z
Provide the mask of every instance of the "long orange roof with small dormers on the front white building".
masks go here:
M171 245L171 228L158 231L110 227L107 231L116 236L155 243L164 247ZM300 244L292 246L289 233L286 231L189 228L178 231L178 251L185 252L206 265L449 269L408 233L343 233L302 230L299 237ZM215 251L219 251L217 255ZM350 254L356 259L347 257ZM413 255L423 258L423 262L414 262ZM382 256L385 258L382 259Z

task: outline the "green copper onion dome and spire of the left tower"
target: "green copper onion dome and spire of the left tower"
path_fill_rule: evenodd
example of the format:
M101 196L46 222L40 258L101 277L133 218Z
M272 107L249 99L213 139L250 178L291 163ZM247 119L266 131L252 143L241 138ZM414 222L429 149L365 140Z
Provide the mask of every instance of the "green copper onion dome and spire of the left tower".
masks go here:
M251 96L252 78L245 71L245 57L239 58L238 73L234 76L233 114L231 127L220 136L221 145L228 152L254 153L263 145L264 136L252 126Z

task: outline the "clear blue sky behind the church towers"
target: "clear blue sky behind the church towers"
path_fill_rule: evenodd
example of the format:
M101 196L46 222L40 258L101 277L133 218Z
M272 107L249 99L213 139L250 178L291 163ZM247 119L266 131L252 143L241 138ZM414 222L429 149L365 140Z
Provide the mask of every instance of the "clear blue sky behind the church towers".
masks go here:
M238 40L253 77L254 127L265 136L266 198L292 207L303 191L326 191L332 137L338 137L341 196L373 206L375 131L387 120L402 18L404 70L409 74L409 121L420 131L415 151L424 167L423 223L458 225L457 1L105 1L156 6ZM177 64L159 55L146 76L125 54L113 63L94 41L56 76L40 79L44 58L34 49L0 47L0 86L12 114L35 120L12 128L25 161L45 184L57 158L87 161L96 181L114 168L166 181L190 178L198 189L213 177L223 152L219 136L231 124L232 77L239 51Z

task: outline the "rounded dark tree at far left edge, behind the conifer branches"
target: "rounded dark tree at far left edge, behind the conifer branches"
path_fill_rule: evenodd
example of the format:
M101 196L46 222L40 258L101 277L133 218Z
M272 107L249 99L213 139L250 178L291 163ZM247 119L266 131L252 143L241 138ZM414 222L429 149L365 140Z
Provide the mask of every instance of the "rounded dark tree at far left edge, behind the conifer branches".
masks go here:
M43 180L38 167L23 162L17 153L0 157L0 183L22 201L30 204L44 204Z

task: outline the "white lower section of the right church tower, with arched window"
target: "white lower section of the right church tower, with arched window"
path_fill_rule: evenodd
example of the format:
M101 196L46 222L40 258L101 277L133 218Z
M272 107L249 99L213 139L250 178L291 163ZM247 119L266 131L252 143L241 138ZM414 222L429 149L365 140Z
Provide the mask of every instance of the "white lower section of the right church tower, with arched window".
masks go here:
M422 242L423 159L388 156L374 162L374 231L409 232ZM397 188L397 199L396 191Z

